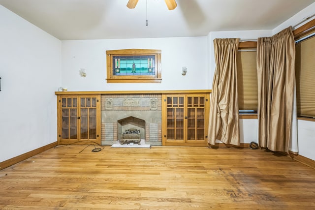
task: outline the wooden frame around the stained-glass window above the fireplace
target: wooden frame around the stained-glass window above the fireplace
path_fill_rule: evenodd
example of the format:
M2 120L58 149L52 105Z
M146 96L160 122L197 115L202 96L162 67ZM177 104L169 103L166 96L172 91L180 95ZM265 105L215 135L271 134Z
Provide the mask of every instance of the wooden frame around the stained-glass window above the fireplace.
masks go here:
M155 75L113 75L113 56L155 56ZM107 83L161 83L161 50L125 49L107 50Z

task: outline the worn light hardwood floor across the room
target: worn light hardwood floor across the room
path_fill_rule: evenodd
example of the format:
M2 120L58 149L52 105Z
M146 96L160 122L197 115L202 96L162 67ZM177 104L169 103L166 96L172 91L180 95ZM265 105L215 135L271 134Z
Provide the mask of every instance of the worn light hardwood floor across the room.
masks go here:
M315 169L265 150L85 147L1 170L0 209L315 209Z

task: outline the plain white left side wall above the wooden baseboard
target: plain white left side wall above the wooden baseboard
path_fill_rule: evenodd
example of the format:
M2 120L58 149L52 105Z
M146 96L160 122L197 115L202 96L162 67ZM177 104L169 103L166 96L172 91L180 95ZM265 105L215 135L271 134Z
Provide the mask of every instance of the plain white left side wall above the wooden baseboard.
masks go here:
M57 141L61 41L0 5L0 162Z

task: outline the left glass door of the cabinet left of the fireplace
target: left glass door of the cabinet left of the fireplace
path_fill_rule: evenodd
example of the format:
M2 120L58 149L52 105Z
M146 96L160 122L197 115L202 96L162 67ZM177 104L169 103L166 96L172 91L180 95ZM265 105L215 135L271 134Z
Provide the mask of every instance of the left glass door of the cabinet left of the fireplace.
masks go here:
M62 98L62 138L77 138L77 98Z

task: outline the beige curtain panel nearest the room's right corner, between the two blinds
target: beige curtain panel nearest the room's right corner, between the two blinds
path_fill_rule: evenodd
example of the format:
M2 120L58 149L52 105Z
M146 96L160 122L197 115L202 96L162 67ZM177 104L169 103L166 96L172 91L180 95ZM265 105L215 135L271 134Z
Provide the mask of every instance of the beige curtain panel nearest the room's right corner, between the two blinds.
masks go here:
M291 27L258 38L258 139L272 151L288 152L293 112L295 43Z

